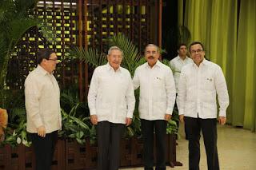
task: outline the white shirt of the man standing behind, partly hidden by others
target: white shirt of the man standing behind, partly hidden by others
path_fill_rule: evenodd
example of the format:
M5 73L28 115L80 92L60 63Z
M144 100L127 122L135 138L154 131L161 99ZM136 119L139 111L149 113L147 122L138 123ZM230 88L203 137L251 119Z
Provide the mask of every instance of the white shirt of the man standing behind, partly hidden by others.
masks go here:
M182 60L181 57L177 56L170 61L170 69L174 73L174 81L175 81L175 87L176 87L177 93L178 93L178 81L179 81L180 74L182 72L182 67L189 63L193 63L193 60L190 57L186 57L184 60Z

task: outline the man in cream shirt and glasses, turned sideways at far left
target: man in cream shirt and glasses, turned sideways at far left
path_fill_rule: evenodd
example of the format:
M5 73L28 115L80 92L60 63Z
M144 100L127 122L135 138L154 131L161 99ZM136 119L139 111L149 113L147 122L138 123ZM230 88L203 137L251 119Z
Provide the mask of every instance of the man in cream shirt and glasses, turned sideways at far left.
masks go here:
M41 49L37 59L38 67L25 81L26 130L34 146L36 170L50 170L62 128L59 87L53 75L58 58L53 50Z

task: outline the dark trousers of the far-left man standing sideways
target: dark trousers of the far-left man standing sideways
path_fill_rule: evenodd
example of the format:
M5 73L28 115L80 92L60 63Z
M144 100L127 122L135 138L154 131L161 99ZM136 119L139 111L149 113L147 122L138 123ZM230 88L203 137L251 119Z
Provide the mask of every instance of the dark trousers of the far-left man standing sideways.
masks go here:
M38 133L30 133L30 139L35 152L36 170L50 170L58 131L47 133L46 137L38 136Z

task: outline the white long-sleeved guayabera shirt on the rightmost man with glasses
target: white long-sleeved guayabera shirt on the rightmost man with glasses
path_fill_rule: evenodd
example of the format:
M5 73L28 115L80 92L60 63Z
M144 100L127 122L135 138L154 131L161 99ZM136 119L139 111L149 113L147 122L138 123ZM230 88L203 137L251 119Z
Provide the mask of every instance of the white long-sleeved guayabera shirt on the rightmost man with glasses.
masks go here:
M204 59L199 67L191 63L182 68L177 97L180 115L202 119L216 118L216 94L220 106L219 116L226 117L229 96L220 66Z

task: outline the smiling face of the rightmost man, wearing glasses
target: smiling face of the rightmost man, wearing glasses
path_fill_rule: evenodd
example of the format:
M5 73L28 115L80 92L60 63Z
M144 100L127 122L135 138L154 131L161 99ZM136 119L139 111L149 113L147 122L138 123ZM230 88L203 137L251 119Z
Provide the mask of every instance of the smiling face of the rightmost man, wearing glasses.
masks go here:
M195 44L190 46L191 58L196 65L200 65L205 57L205 51L202 49L202 45Z

